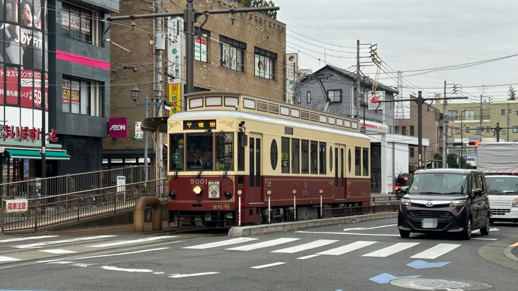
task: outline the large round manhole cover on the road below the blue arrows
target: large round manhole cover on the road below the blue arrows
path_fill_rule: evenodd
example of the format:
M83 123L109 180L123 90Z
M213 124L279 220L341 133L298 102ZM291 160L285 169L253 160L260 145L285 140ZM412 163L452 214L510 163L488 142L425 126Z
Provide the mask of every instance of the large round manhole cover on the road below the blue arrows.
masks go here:
M396 279L390 281L392 285L418 290L451 290L451 291L476 291L493 288L490 284L463 280L453 281L445 279Z

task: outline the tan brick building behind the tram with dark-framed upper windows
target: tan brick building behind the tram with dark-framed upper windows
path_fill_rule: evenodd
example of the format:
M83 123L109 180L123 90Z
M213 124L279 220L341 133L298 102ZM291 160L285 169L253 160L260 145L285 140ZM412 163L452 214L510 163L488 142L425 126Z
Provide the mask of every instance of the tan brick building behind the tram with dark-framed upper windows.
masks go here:
M185 1L164 2L164 11L181 12ZM229 1L199 0L196 10L241 8ZM126 1L120 4L117 15L153 13L152 4ZM285 98L285 24L264 14L236 13L214 14L199 17L196 26L194 89L199 91L239 91L262 97ZM152 19L135 20L135 30L129 21L111 25L111 117L127 118L127 138L108 138L103 143L105 168L116 168L143 163L143 142L135 139L135 122L142 121L144 110L131 99L134 86L140 90L142 103L145 97L152 101L154 89L154 23ZM116 45L113 45L116 44ZM117 46L118 45L118 46ZM128 52L129 51L129 52ZM164 51L164 68L168 66ZM231 57L232 56L232 57ZM257 69L257 60L264 70ZM182 62L182 69L185 61ZM136 69L124 69L135 66ZM132 67L133 68L133 67ZM166 69L164 71L167 71ZM185 75L184 75L185 76ZM163 98L167 99L167 77L164 76ZM154 116L156 108L149 111ZM154 158L152 138L149 138L148 156ZM166 155L164 155L166 156Z

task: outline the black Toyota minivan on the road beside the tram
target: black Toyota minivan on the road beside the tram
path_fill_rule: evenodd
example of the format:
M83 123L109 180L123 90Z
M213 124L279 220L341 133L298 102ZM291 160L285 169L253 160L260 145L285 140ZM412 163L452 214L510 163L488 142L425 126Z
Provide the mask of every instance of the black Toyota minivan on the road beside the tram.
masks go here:
M491 211L481 171L417 170L405 192L397 220L401 237L423 232L453 233L470 239L473 229L489 234Z

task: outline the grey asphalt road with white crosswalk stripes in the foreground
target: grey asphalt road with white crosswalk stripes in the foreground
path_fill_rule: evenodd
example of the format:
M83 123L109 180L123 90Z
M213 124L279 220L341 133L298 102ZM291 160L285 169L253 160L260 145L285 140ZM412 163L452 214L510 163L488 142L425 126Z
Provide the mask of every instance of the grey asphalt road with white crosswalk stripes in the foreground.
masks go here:
M477 287L473 282L516 289L518 261L502 252L518 242L518 225L496 224L489 236L474 232L466 241L402 239L395 224L386 219L242 238L122 228L0 235L0 289L410 290L392 284L407 277L427 286L471 285L458 290Z

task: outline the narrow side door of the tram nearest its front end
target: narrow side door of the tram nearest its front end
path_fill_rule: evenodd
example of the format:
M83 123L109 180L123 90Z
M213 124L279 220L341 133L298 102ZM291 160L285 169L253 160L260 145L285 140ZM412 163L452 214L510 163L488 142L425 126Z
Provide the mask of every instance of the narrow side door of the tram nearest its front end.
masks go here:
M261 135L249 134L249 181L248 201L258 203L261 201Z

